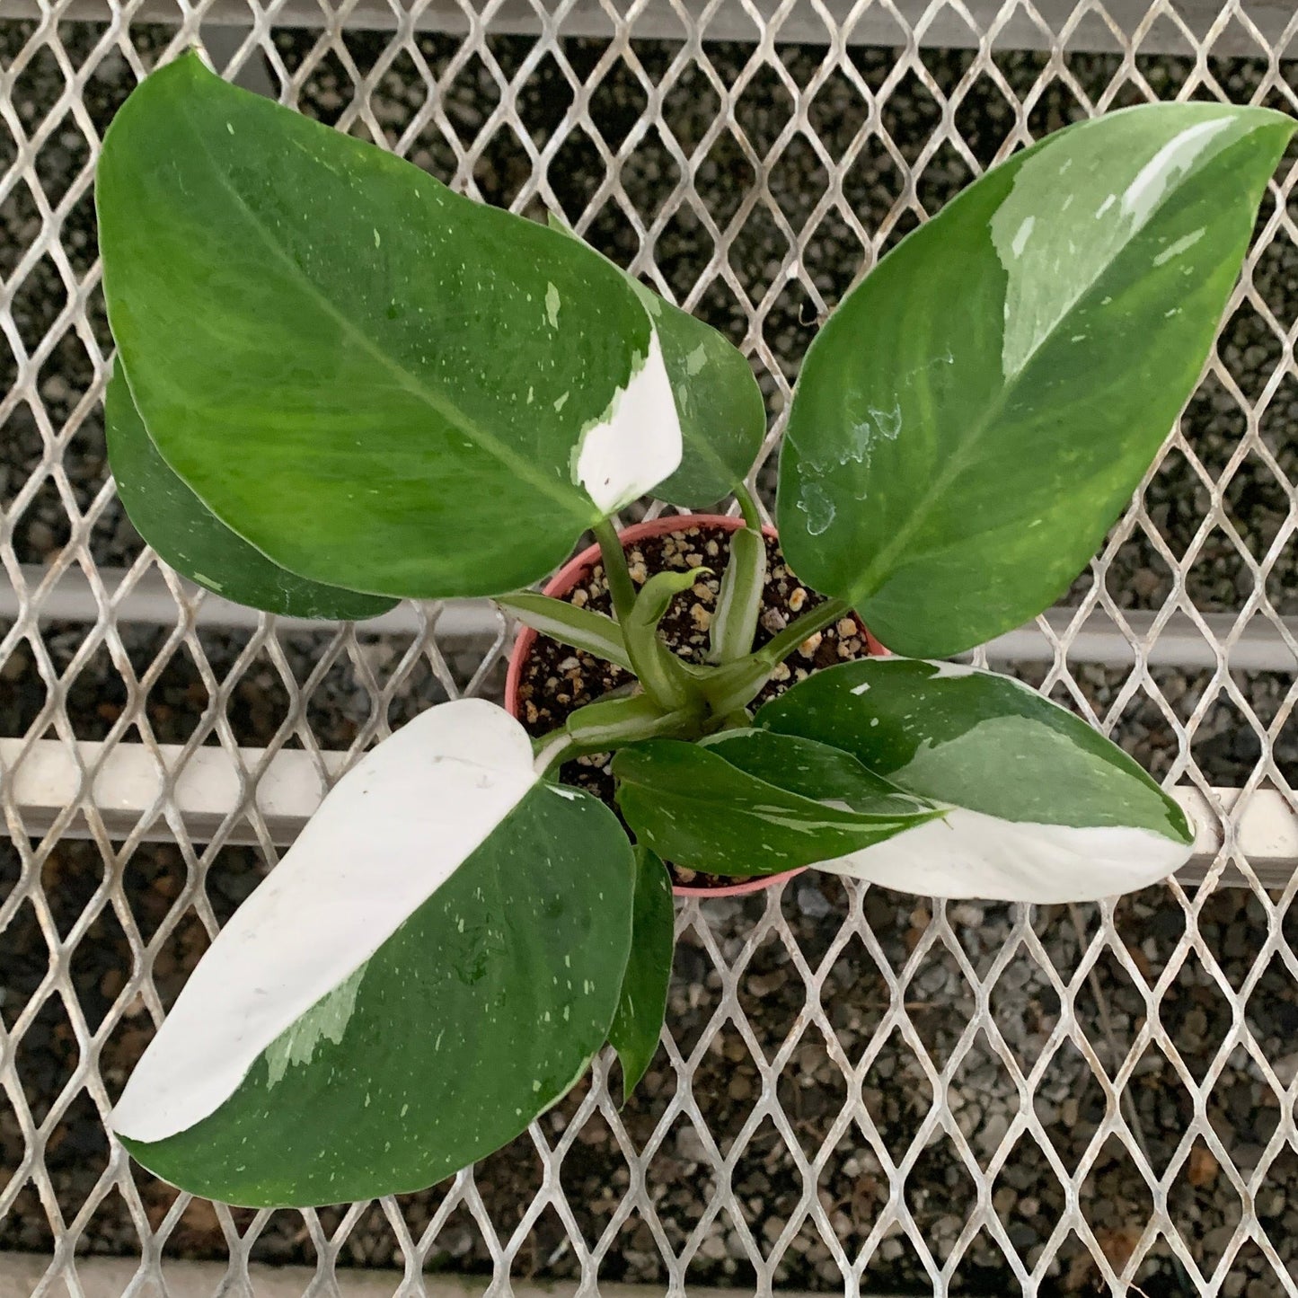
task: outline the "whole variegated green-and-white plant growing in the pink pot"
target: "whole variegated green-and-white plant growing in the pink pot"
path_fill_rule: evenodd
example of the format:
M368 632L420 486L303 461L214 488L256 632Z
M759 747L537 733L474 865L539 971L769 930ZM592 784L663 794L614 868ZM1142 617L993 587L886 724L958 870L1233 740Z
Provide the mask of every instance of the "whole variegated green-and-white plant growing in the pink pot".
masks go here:
M1025 902L1182 863L1192 827L1134 762L940 659L1050 605L1120 513L1292 131L1218 104L1114 113L884 257L802 367L776 517L806 607L763 639L774 550L741 483L765 421L726 340L565 231L193 55L145 80L97 178L110 456L140 532L275 613L495 596L622 676L535 741L482 700L432 707L344 775L123 1092L135 1157L213 1198L328 1203L485 1155L606 1040L630 1092L663 1015L663 861ZM724 562L700 532L696 563L632 574L610 518L649 492L737 493ZM607 613L528 589L587 530ZM658 630L700 582L681 657ZM858 615L889 655L763 696L818 635L861 640ZM556 779L592 753L615 754L618 814Z

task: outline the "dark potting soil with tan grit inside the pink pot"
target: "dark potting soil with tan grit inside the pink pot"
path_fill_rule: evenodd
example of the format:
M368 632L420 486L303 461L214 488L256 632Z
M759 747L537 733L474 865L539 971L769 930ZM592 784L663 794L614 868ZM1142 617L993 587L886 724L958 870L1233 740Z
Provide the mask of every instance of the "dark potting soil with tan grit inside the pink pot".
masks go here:
M698 580L678 594L662 619L662 639L666 645L687 662L702 662L707 653L707 635L716 607L722 574L729 561L729 532L719 527L700 527L684 519L679 532L650 536L624 546L631 580L636 587L655 572L684 569L711 569L700 574ZM597 613L611 613L609 585L604 565L596 566L563 598L579 607ZM762 613L758 618L753 646L759 649L771 636L783 631L789 622L810 609L824 604L826 597L802 585L784 562L779 543L766 537L766 588L762 592ZM839 662L868 655L861 626L854 618L842 618L837 624L818 631L776 667L771 679L753 702L759 707L768 698L813 672L832 667ZM520 720L533 739L562 726L579 707L594 702L610 689L627 684L631 672L580 649L537 635L532 650L519 675L518 701ZM613 780L613 754L594 753L566 762L559 768L559 779L593 793L617 810ZM724 875L709 875L671 864L678 884L691 887L726 887L739 880Z

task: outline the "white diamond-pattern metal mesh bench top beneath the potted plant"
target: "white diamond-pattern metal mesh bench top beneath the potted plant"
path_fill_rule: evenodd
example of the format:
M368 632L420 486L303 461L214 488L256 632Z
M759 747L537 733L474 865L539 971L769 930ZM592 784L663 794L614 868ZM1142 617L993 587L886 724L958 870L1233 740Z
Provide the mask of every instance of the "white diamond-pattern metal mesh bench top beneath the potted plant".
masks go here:
M689 903L643 1096L619 1112L600 1060L422 1195L239 1212L109 1146L131 1060L284 841L276 761L323 783L428 704L498 692L510 635L454 606L249 623L139 544L103 456L91 206L136 78L206 36L254 88L489 201L563 212L754 357L766 489L816 319L993 160L1145 99L1298 108L1285 5L459 3L42 0L0 23L0 1245L52 1251L42 1289L71 1293L86 1251L136 1256L136 1286L164 1256L228 1258L230 1292L262 1258L313 1263L327 1292L335 1266L379 1263L402 1293L448 1267L501 1292L513 1273L1298 1293L1298 883L1241 849L1260 807L1258 851L1282 858L1298 809L1292 156L1181 427L1041 619L1044 652L1016 640L1011 663L1202 794L1221 842L1205 887L1028 910L803 877ZM1097 627L1119 652L1083 661ZM52 754L77 792L38 816L23 772ZM221 754L200 823L184 772ZM123 819L105 790L125 759L147 779Z

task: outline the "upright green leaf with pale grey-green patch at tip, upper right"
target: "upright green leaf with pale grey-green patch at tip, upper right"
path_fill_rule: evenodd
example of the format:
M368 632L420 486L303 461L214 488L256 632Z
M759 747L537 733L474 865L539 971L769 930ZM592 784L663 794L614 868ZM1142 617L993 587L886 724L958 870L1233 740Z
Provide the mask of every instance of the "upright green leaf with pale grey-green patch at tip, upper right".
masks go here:
M945 657L1084 567L1198 382L1288 117L1071 126L909 235L811 344L780 543L889 648Z

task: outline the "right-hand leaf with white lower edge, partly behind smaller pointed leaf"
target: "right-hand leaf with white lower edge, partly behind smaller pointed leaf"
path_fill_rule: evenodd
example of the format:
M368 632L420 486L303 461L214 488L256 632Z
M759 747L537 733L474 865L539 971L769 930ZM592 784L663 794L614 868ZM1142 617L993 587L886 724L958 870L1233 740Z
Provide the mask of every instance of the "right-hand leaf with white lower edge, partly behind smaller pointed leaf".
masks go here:
M754 724L850 753L945 819L820 868L902 892L1092 901L1185 863L1180 806L1081 718L1007 676L867 658L819 671Z

